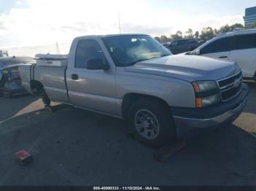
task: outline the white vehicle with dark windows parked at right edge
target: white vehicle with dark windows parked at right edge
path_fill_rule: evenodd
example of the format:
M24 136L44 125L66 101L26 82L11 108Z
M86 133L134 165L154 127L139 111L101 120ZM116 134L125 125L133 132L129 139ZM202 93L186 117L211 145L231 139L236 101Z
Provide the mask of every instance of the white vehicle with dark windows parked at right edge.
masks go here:
M221 34L187 55L236 61L244 78L256 80L256 29Z

